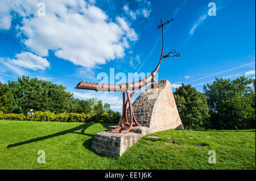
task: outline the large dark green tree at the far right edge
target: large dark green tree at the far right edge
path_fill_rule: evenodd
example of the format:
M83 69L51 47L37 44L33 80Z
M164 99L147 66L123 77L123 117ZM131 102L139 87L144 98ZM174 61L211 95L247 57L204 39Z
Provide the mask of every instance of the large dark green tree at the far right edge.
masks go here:
M230 79L216 78L204 86L210 111L210 128L255 128L255 94L250 85L253 79L244 76Z

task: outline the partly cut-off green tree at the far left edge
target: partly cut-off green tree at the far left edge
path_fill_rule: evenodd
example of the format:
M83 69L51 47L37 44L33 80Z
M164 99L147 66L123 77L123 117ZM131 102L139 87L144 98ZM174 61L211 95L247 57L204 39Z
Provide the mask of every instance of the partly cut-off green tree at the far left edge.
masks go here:
M0 82L0 111L10 113L13 108L13 92Z

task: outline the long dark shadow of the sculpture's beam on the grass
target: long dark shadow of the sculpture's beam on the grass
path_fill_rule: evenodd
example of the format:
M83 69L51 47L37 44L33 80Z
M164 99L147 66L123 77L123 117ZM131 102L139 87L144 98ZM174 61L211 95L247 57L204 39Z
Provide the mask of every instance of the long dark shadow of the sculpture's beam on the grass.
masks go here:
M67 129L67 130L61 131L61 132L59 132L59 133L54 133L54 134L50 134L50 135L47 135L47 136L42 136L42 137L38 137L38 138L33 138L33 139L31 139L31 140L18 142L18 143L16 143L16 144L11 144L11 145L8 145L7 148L13 148L13 147L15 147L15 146L30 144L31 142L42 141L42 140L46 140L46 139L48 139L48 138L52 138L52 137L56 137L56 136L61 136L61 135L67 134L67 133L83 134L83 135L92 137L92 138L89 139L89 140L92 140L93 137L94 137L94 134L87 134L87 133L84 133L84 131L85 131L85 129L89 128L89 127L92 126L93 124L96 124L96 123L85 123L85 124L79 125L78 127L71 128L71 129ZM78 130L80 130L80 129L82 129L81 132L75 132L75 131L78 131ZM92 141L91 141L91 142L92 142ZM86 144L86 145L87 145L87 144ZM88 146L87 146L86 148L89 149Z

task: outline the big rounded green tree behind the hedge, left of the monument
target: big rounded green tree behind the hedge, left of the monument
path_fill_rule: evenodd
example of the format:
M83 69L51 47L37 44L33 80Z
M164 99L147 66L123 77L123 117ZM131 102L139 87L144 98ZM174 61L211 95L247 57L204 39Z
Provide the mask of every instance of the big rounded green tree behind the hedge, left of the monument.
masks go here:
M14 95L14 113L27 113L28 110L66 112L71 92L62 85L49 81L23 76L18 82L9 81L9 89Z

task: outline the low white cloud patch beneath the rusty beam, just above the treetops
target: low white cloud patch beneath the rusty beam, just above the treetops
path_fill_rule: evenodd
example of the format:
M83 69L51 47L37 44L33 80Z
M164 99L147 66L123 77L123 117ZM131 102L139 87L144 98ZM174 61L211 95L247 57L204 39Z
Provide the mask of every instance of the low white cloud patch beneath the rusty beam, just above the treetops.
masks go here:
M97 98L99 100L102 100L102 103L108 103L110 104L110 108L115 111L121 111L122 110L122 100L121 96L114 96L109 92L97 92L97 94L81 94L80 92L72 92L73 96L75 98L80 99L90 99L90 98ZM121 94L120 94L121 95Z

